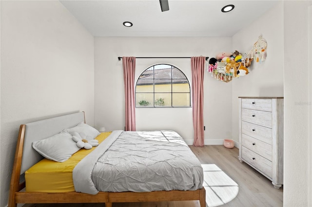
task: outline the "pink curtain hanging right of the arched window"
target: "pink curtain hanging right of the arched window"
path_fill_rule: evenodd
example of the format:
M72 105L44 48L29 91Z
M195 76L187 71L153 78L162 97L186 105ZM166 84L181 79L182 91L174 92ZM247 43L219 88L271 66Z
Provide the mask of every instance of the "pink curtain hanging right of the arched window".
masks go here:
M205 57L191 57L194 146L204 146Z

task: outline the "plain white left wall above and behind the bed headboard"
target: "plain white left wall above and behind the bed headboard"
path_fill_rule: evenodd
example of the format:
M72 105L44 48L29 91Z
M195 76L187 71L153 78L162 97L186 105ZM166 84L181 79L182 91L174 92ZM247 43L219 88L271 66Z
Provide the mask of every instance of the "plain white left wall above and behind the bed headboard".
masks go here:
M94 38L59 1L0 3L4 207L20 124L81 110L94 124Z

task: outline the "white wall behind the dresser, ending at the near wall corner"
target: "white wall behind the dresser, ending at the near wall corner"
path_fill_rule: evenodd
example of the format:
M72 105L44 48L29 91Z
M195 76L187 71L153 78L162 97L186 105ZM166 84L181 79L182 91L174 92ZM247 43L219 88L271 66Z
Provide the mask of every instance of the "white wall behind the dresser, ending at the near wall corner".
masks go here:
M264 62L252 62L250 73L234 79L232 87L233 139L238 141L239 96L284 96L284 42L283 2L266 12L233 36L233 51L249 52L258 37L267 40L267 58Z

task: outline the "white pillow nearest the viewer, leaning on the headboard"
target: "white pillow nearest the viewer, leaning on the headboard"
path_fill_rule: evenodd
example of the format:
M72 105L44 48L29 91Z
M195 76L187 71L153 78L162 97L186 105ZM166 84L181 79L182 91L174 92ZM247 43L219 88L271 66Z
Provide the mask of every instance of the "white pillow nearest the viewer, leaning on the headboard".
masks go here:
M80 148L67 132L33 142L33 148L42 156L57 162L64 162Z

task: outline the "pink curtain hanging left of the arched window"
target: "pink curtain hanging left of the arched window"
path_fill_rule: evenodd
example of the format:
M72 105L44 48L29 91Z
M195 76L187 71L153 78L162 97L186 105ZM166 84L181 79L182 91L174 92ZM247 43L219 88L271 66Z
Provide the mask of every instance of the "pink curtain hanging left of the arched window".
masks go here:
M135 71L136 57L122 57L125 85L126 131L136 131Z

